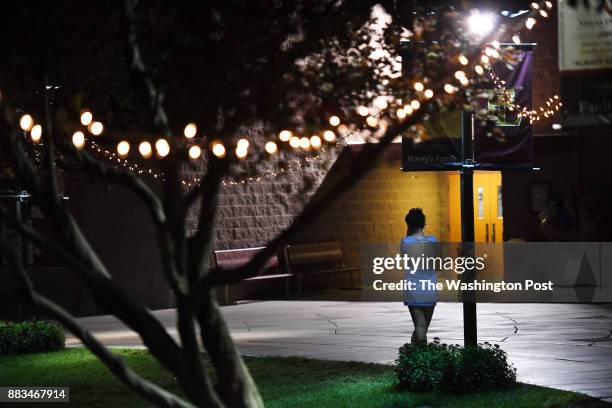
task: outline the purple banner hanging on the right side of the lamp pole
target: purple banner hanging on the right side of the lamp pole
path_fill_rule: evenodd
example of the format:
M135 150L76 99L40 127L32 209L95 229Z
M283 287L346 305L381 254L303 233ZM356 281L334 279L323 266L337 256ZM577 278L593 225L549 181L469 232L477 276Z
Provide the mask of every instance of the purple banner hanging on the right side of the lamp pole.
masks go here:
M531 168L533 162L532 129L523 109L531 110L533 54L517 51L518 62L492 64L489 89L492 100L483 104L490 120L474 123L474 161L479 167Z

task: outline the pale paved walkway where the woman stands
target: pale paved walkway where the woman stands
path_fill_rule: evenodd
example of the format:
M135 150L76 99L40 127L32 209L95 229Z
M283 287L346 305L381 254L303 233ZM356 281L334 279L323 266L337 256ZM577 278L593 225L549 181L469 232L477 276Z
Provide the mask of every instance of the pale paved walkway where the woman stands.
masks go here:
M408 311L395 303L266 301L226 306L243 354L391 364L409 340ZM155 314L176 337L174 310ZM110 316L80 319L108 345L139 346ZM479 304L478 338L500 344L522 382L612 401L612 309L576 304ZM440 303L430 340L462 343L461 304ZM68 344L78 341L71 338Z

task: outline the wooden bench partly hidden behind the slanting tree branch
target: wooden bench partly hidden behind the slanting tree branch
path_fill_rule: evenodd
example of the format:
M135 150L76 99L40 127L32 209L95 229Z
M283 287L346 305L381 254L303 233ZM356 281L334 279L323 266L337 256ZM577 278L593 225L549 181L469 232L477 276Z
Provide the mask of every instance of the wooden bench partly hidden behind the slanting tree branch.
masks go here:
M214 251L213 259L212 259L213 267L221 267L224 269L239 268L247 264L262 249L264 249L264 247L227 249L227 250ZM247 278L245 279L245 281L247 282L262 281L263 282L269 279L284 279L285 280L285 295L289 296L291 276L292 275L290 273L279 273L278 257L274 255L270 259L268 259L260 275L254 276L252 278ZM230 285L225 285L225 288L224 288L225 303L229 303L229 298L230 298L229 287Z

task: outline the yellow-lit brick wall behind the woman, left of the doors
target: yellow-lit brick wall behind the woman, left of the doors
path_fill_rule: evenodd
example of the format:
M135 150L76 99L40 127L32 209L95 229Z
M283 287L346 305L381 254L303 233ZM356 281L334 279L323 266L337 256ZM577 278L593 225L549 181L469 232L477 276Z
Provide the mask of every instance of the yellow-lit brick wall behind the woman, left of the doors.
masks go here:
M399 160L384 160L357 186L300 234L297 242L340 241L348 265L359 264L368 242L397 242L406 235L404 217L421 207L426 233L448 239L448 178L445 172L402 173Z

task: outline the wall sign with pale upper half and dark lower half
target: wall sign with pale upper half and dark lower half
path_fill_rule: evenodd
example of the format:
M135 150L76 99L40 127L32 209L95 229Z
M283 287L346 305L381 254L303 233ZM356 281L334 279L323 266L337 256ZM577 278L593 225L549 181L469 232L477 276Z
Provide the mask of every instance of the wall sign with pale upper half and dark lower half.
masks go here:
M559 0L559 71L564 127L612 124L612 8Z

